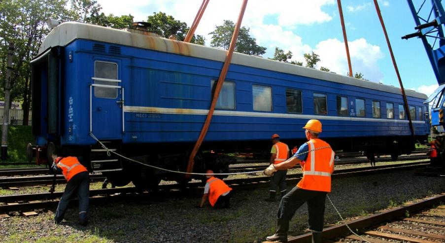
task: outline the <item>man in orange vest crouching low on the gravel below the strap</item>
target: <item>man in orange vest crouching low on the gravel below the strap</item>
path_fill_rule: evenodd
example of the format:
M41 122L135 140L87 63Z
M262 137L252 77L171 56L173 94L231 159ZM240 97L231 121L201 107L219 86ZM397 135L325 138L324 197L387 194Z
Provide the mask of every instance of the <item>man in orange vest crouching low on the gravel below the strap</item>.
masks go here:
M208 197L208 202L210 202L210 205L215 209L230 208L230 198L232 197L230 191L232 189L229 188L223 180L214 177L212 170L207 170L205 174L207 183L205 184L201 203L197 207L202 208Z

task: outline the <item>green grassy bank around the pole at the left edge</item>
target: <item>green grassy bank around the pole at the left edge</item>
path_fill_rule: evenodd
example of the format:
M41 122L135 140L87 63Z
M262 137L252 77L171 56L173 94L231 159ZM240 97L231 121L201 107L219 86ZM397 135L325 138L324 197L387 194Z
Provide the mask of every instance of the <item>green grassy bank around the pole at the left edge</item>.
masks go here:
M0 131L2 130L3 126L0 126ZM35 144L31 126L8 126L8 158L6 162L26 162L28 143Z

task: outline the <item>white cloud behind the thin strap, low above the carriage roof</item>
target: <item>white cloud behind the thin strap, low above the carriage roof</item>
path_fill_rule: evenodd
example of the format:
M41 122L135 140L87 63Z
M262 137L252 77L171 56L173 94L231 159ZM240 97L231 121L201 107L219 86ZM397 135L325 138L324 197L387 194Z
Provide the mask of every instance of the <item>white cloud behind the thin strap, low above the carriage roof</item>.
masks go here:
M362 73L364 78L370 81L382 81L383 74L377 65L377 61L383 58L380 47L368 43L363 38L348 41L348 47L352 73ZM323 66L341 75L349 72L344 42L338 39L324 40L319 42L313 51L320 56L317 67Z

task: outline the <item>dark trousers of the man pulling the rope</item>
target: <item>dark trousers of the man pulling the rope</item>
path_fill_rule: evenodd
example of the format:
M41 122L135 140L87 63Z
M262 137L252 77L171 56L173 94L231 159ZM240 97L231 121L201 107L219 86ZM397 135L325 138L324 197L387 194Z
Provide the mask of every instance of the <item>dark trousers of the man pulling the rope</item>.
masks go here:
M324 191L305 190L294 187L281 198L277 218L291 220L295 215L295 211L307 202L309 230L322 232L326 194L327 192Z

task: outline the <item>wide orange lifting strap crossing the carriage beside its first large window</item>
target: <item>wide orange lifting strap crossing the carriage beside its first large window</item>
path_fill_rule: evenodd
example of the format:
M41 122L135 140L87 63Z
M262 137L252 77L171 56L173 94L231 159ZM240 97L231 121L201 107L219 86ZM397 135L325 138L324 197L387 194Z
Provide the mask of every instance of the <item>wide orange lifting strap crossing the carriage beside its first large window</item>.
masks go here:
M221 91L223 82L226 79L227 70L229 70L229 65L232 60L233 51L235 50L235 44L237 43L238 33L240 32L241 21L242 17L244 16L244 11L246 9L246 6L247 6L247 0L243 0L240 15L238 16L237 25L233 32L232 41L230 42L229 51L227 52L226 60L224 61L224 65L221 70L221 74L219 75L218 82L216 83L215 93L213 94L213 99L210 105L210 109L208 110L207 118L205 119L203 129L201 130L201 134L199 135L198 140L196 141L195 147L193 148L192 154L190 155L189 162L187 164L187 173L191 173L193 171L193 165L195 163L196 153L201 147L205 134L207 133L208 127L210 126L210 121L213 116L213 111L215 110L216 102L218 101L219 92ZM190 174L185 175L185 179L188 179L189 177Z

